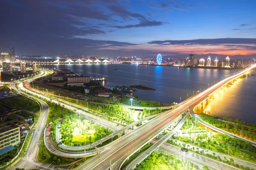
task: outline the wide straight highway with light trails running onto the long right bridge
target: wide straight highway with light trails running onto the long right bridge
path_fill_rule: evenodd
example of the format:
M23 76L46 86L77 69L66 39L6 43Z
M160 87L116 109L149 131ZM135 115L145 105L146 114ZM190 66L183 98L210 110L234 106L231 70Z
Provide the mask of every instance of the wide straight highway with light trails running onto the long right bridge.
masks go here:
M125 136L122 136L119 139L108 144L109 148L99 156L95 156L89 161L81 164L77 169L95 169L95 170L106 170L110 166L110 161L112 163L113 169L119 170L120 164L124 161L129 155L137 151L141 146L143 146L148 141L151 141L154 136L160 133L166 126L169 124L169 120L175 119L180 113L185 111L187 108L192 107L204 99L207 96L213 94L216 90L221 88L227 82L235 79L238 76L249 71L251 68L247 68L244 71L241 71L233 76L227 77L226 79L221 80L220 82L212 85L207 90L201 92L195 97L187 100L186 102L180 104L175 110L168 111L164 115L157 116L148 123L141 125L137 129L133 130L132 133L128 133ZM105 164L106 162L106 164Z

